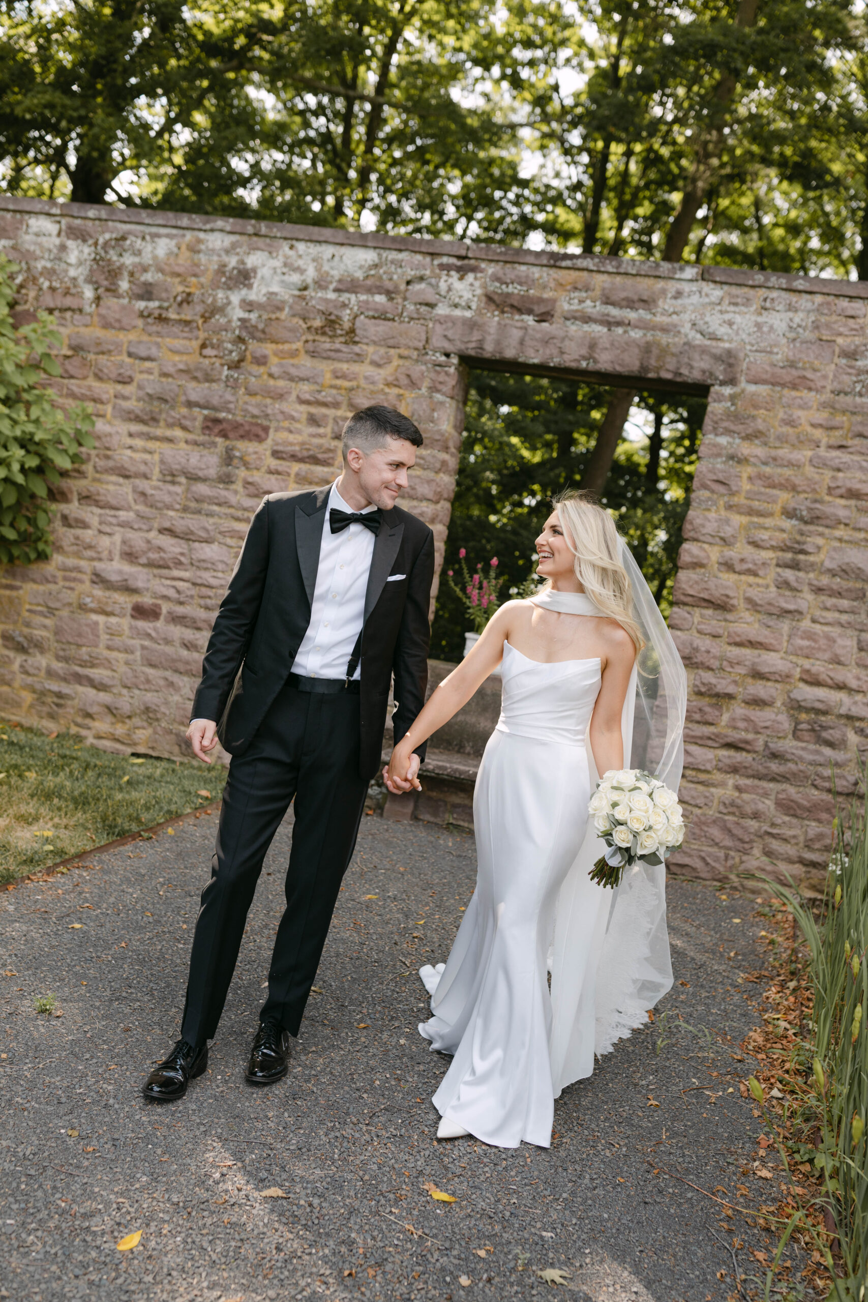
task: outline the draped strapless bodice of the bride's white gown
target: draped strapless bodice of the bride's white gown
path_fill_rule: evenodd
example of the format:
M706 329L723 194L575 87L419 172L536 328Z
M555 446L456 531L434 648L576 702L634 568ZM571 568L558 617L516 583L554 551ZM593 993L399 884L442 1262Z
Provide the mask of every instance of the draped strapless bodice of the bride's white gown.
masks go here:
M600 660L530 660L504 642L497 730L583 746L600 691Z

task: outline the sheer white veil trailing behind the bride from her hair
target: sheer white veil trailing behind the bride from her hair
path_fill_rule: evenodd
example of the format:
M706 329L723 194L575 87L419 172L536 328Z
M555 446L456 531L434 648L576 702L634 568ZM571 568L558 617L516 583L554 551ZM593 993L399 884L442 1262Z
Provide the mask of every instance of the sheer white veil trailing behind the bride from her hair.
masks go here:
M634 617L645 646L634 665L621 716L623 767L644 768L674 792L683 764L687 677L669 629L621 539ZM554 596L556 594L552 594ZM545 594L540 604L545 602ZM537 599L539 600L539 599ZM599 775L588 747L591 790ZM601 854L593 823L557 902L552 945L552 1078L554 1096L593 1070L593 1055L648 1019L671 987L665 865L638 863L616 891L588 879ZM593 1031L591 1032L591 1027Z

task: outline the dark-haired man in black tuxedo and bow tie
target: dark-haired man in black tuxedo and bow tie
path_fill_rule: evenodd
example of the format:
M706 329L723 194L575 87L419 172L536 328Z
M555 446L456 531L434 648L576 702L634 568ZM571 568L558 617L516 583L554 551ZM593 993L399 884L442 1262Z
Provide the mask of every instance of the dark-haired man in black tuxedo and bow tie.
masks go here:
M148 1099L181 1098L208 1065L263 858L294 798L286 909L246 1075L286 1074L380 766L392 676L396 741L424 703L433 534L396 506L420 447L407 417L364 408L344 428L336 483L272 493L252 518L187 732L199 759L211 763L219 738L232 763L181 1039L148 1075Z

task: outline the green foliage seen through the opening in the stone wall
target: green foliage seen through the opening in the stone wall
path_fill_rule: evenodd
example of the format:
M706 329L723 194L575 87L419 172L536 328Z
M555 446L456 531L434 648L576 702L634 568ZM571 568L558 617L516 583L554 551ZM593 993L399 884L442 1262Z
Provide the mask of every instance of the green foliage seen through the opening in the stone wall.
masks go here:
M548 516L548 499L580 487L610 393L575 380L471 372L444 572L457 568L461 547L471 569L497 556L504 600L534 573L534 540ZM603 504L614 513L668 613L705 400L640 393L632 414ZM459 660L465 631L461 602L444 574L432 656Z

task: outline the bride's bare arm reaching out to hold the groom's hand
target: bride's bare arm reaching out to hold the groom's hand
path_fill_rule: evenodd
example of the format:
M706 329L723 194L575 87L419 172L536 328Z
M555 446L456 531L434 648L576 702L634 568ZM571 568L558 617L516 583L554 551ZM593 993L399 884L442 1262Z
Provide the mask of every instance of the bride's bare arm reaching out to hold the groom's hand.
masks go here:
M449 723L453 715L466 706L480 682L496 669L504 658L504 641L509 635L510 608L514 602L501 605L485 625L479 642L452 673L435 687L431 697L410 724L409 729L392 751L389 767L383 776L390 792L409 792L411 786L422 790L418 779L419 756L414 755L416 746L427 741L432 733Z

